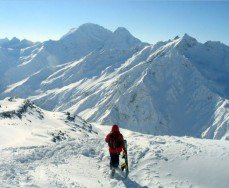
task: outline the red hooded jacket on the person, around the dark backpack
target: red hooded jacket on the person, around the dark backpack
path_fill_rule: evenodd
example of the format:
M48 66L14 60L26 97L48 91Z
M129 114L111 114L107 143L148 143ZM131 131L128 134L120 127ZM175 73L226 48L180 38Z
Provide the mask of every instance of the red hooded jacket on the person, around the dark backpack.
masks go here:
M125 146L124 146L124 139L123 139L123 135L119 132L119 128L117 125L113 125L112 126L112 129L111 129L111 132L106 136L106 139L105 141L107 143L109 143L109 140L110 140L110 136L114 134L115 137L117 138L117 141L122 143L122 145L120 147L117 147L117 148L111 148L109 147L109 152L111 154L115 154L115 153L121 153L122 151L125 151Z

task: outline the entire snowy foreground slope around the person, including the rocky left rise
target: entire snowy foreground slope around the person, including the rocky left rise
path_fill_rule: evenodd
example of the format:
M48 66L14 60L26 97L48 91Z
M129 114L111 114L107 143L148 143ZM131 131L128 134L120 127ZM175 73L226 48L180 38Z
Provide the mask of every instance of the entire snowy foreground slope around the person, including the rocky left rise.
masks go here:
M11 118L2 116L4 112L17 112L25 103L9 98L1 101L1 187L227 188L229 185L229 145L225 140L152 136L121 129L128 142L130 174L124 178L117 170L111 179L108 146L104 141L110 126L94 124L89 132L89 124L78 116L74 122L65 121L63 113L31 108L28 101L30 106L21 119L13 114ZM58 131L68 137L53 142L50 133Z

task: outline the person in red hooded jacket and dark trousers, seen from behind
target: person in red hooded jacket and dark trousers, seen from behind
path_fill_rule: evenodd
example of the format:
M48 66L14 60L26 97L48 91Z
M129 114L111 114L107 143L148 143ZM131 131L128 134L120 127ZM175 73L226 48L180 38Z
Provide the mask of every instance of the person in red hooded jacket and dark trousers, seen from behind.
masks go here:
M123 151L126 153L123 135L119 131L118 125L113 125L111 132L106 136L105 141L108 143L110 152L111 170L119 166L119 155Z

